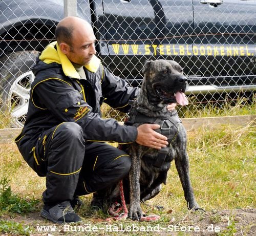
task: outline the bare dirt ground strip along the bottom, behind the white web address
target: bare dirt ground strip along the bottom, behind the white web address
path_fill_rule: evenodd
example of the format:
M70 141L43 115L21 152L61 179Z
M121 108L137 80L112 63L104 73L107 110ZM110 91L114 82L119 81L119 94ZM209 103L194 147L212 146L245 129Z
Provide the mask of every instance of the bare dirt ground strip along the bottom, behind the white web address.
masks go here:
M1 220L1 219L0 219ZM39 216L39 212L33 212L27 214L25 217L16 216L8 219L14 222L19 222L23 225L30 225L34 228L31 235L160 235L160 236L180 236L180 235L256 235L256 209L233 209L233 210L221 210L211 211L202 214L187 213L181 221L176 221L174 218L168 223L149 222L143 226L138 223L133 223L130 220L119 222L105 222L102 219L87 219L87 223L81 223L79 226L88 230L89 228L96 227L95 233L92 231L79 231L76 228L76 232L72 232L71 228L67 228L66 225L53 224L49 221L45 221ZM90 221L88 221L90 220ZM88 223L90 222L90 223ZM131 223L131 224L130 224ZM135 225L135 226L133 226ZM159 226L160 225L160 226ZM54 231L48 232L44 228L38 229L38 227L56 226ZM72 225L71 225L72 226ZM135 230L133 232L129 231ZM138 228L136 228L136 226ZM147 228L149 226L149 228ZM66 227L66 229L65 229ZM77 227L73 225L73 227ZM86 228L87 227L87 228ZM115 228L116 227L116 228ZM152 228L151 228L152 227ZM113 230L111 233L110 231ZM40 232L41 230L41 232ZM74 228L73 228L74 230ZM78 231L77 231L78 230ZM116 230L116 231L115 231ZM118 230L118 231L117 231ZM124 231L121 231L124 230ZM127 230L127 231L126 231ZM136 231L137 230L137 231ZM145 230L150 230L147 232ZM49 232L50 231L50 232ZM2 234L12 235L12 234Z

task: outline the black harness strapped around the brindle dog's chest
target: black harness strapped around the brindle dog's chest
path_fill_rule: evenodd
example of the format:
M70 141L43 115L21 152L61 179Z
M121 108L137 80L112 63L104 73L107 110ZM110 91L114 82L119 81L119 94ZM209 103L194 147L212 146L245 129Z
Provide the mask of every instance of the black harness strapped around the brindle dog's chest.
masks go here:
M180 123L181 123L181 120L180 120L177 112L175 114L168 113L167 116L164 116L162 118L161 117L148 117L148 116L145 116L145 115L139 113L138 111L136 111L135 113L136 114L133 114L133 116L131 116L128 121L125 121L126 125L132 125L134 123L159 124L160 128L158 128L155 131L157 133L167 137L167 139L170 140L169 144L177 137L177 135L179 133ZM158 151L158 157L154 163L155 167L162 166L168 152L169 152L168 147L161 148Z

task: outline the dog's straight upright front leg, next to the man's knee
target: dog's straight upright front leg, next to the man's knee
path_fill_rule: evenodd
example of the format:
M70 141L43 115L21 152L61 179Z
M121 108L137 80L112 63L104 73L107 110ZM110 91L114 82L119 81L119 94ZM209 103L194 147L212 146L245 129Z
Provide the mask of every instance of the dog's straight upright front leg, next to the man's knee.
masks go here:
M129 173L130 180L130 208L128 216L132 220L139 221L142 217L142 209L140 207L140 164L141 152L138 145L131 146L130 156L132 158L132 166Z

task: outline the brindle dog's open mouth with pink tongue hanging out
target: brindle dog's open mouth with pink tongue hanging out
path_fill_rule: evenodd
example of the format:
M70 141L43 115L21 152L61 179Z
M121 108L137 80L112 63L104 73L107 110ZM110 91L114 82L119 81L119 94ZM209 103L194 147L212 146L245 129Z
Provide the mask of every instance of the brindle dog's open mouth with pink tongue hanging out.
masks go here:
M167 93L166 91L157 88L156 89L158 97L165 102L175 102L177 101L180 105L187 105L188 100L186 95L182 90L177 91L176 93Z

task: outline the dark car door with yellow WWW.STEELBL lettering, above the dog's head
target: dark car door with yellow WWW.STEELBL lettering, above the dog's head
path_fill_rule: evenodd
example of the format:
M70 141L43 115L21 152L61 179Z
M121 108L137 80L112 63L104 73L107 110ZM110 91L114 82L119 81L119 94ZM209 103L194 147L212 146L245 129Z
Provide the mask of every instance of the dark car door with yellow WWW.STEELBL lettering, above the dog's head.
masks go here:
M148 59L175 59L189 73L193 62L190 0L103 0L106 33L101 50L117 76L137 86ZM105 50L108 48L108 52ZM108 55L107 55L108 54Z

